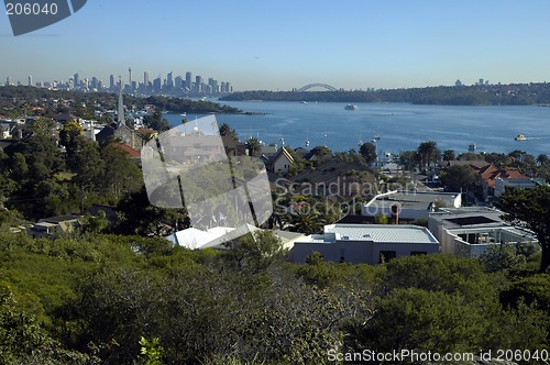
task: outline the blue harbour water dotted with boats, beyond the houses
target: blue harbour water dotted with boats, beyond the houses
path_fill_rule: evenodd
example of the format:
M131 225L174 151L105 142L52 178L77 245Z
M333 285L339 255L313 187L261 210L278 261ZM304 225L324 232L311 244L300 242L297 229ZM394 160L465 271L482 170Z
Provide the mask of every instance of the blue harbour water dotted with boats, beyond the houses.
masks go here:
M258 114L218 114L241 141L258 137L266 144L284 141L292 147L326 145L333 152L359 148L361 142L376 141L378 154L415 150L421 142L436 141L441 151L465 153L471 143L476 152L509 153L521 150L535 156L550 155L550 108L546 107L455 107L407 103L358 103L345 110L341 102L245 101L222 103ZM187 114L193 120L204 115ZM179 114L165 114L172 124ZM515 141L525 134L526 141ZM373 140L380 136L380 140Z

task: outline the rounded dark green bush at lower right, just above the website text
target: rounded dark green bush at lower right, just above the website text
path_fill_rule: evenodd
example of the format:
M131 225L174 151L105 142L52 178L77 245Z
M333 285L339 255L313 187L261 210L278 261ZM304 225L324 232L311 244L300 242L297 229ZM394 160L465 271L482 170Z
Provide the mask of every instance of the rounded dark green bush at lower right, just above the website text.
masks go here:
M355 332L356 331L356 332ZM441 354L482 349L486 321L458 294L397 289L380 300L364 328L352 329L353 349L415 349Z

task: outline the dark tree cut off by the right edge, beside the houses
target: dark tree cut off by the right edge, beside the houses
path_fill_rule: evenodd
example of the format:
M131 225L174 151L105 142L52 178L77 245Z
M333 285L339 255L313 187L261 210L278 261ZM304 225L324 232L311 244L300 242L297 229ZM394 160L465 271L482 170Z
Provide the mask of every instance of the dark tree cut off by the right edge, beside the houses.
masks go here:
M540 272L547 273L550 266L550 187L508 188L496 206L505 212L504 220L535 233L542 250Z

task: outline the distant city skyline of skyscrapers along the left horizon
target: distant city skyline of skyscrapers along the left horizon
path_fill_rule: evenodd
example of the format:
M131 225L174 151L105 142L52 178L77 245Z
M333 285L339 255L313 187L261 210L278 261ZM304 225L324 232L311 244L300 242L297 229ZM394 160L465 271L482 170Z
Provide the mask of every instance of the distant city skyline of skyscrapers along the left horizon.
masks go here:
M102 80L96 76L81 78L78 73L74 74L68 81L44 81L33 84L33 77L29 76L28 86L36 86L48 89L59 90L78 90L78 91L118 91L122 87L124 92L135 95L173 95L173 96L216 96L226 95L233 91L230 82L221 81L209 77L208 82L205 82L202 76L196 75L195 79L193 74L187 71L185 78L180 75L174 75L173 71L168 73L166 77L161 75L151 79L150 73L143 73L143 81L132 78L132 68L128 68L128 82L124 81L125 77L114 74L109 76L109 84L103 85ZM13 80L10 76L6 79L6 86L13 86ZM18 81L18 86L22 84Z

